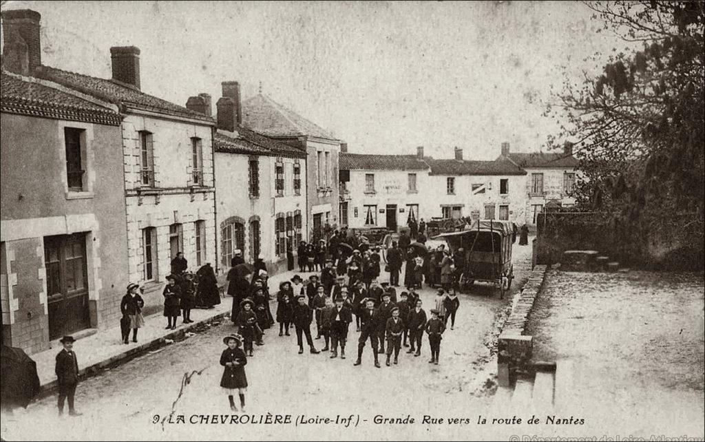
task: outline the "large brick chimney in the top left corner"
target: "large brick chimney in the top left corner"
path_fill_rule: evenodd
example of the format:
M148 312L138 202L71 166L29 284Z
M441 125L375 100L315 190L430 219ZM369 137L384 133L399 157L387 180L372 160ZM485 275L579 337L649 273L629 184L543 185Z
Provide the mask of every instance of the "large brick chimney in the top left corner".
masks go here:
M23 64L23 54L12 52L21 49L17 43L23 42L27 47L27 69L29 73L33 73L35 68L42 66L42 40L39 35L39 21L42 20L42 15L30 9L16 9L2 11L1 16L5 45L4 58L13 57L14 61L17 61L19 56L20 65ZM8 44L11 45L10 48Z

